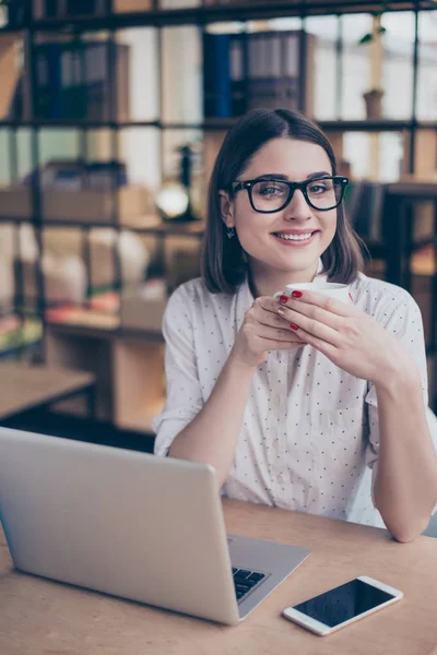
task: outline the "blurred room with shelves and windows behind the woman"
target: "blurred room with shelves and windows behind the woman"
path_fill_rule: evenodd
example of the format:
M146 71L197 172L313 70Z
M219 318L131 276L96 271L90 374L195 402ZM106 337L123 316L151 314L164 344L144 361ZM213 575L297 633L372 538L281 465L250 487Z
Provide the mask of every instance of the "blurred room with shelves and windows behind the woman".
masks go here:
M331 140L370 275L417 300L437 408L437 3L0 0L0 424L151 451L161 321L255 107Z

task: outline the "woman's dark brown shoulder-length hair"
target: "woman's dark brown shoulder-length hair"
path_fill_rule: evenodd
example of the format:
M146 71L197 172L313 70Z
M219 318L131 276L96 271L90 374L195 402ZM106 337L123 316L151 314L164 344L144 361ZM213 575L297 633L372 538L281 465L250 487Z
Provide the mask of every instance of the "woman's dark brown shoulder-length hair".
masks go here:
M251 157L269 141L288 136L320 145L336 175L335 155L328 139L316 123L298 111L287 109L253 109L243 116L228 131L215 160L209 184L208 219L203 239L201 269L209 290L234 294L247 275L248 264L238 236L227 238L222 219L220 191L229 191L232 182L247 168ZM336 210L334 238L321 260L328 279L349 284L363 270L362 240L354 233L344 213Z

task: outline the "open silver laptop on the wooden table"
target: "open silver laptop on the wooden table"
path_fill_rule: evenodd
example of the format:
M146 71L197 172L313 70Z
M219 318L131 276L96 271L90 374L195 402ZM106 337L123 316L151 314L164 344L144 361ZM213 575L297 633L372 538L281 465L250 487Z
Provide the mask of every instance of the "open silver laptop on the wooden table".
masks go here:
M234 624L309 555L226 535L213 467L0 428L16 569Z

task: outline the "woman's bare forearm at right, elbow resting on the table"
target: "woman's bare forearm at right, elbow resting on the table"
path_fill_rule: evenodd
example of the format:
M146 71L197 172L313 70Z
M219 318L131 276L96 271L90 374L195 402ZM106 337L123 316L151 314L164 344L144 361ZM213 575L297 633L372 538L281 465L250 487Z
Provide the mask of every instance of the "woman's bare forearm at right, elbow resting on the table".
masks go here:
M379 418L379 458L375 504L399 541L427 526L437 500L437 457L425 416L421 376L412 361L397 364L375 382Z

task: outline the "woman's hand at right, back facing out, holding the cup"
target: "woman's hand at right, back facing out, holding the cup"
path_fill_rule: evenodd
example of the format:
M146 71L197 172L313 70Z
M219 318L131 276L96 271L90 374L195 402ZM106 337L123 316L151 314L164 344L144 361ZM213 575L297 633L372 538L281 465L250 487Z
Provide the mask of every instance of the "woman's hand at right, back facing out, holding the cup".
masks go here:
M347 373L377 384L390 373L414 370L400 341L352 301L316 291L293 294L277 302L277 313L290 330Z

